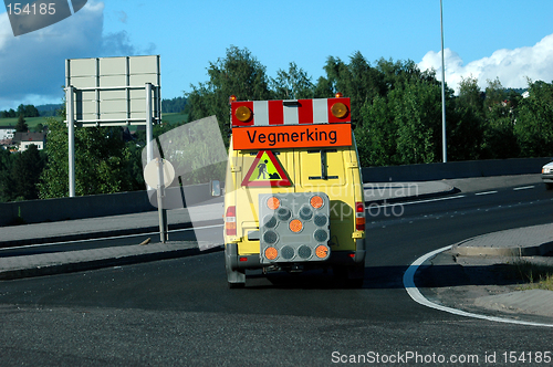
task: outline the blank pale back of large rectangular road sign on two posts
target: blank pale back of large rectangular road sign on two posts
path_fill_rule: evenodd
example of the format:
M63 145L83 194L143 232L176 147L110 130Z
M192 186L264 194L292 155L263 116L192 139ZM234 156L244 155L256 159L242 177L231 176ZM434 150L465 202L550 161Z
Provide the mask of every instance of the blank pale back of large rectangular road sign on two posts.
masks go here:
M73 112L77 124L145 125L147 83L153 85L153 117L158 119L159 55L65 61L65 86L74 88Z

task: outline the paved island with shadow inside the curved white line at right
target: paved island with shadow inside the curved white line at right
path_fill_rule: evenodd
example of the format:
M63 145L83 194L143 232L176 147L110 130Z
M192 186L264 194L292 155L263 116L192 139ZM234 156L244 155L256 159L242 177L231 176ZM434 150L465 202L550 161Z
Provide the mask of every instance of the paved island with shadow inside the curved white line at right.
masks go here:
M469 313L551 324L553 291L525 290L517 261L543 256L463 256L455 250L427 260L415 283L429 301ZM553 265L553 258L549 258Z

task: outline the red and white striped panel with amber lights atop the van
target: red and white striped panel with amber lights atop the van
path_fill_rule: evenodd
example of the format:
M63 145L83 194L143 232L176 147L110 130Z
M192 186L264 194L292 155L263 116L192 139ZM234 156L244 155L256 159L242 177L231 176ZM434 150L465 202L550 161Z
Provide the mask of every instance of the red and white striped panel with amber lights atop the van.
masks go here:
M231 102L232 127L351 123L349 98Z

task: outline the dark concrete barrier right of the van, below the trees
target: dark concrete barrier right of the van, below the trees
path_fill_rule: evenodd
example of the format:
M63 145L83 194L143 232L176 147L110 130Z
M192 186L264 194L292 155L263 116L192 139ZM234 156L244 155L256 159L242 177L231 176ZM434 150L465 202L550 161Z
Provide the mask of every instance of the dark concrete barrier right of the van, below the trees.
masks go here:
M540 174L551 158L511 158L363 168L364 182L434 181L452 178Z

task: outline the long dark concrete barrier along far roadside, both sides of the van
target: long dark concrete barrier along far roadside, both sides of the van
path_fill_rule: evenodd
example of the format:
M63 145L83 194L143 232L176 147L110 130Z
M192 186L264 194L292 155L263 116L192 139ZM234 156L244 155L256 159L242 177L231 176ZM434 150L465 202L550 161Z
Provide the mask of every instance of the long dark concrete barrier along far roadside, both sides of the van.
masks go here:
M452 161L392 167L363 168L364 182L432 181L450 178L489 177L539 174L550 158L514 158L473 161ZM186 197L186 203L182 200ZM211 198L209 184L167 190L167 209L192 206ZM0 226L18 221L40 223L69 219L129 214L157 210L156 193L152 190L94 195L75 198L29 200L0 203Z

